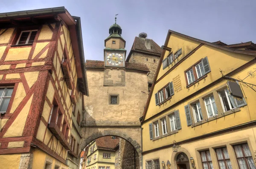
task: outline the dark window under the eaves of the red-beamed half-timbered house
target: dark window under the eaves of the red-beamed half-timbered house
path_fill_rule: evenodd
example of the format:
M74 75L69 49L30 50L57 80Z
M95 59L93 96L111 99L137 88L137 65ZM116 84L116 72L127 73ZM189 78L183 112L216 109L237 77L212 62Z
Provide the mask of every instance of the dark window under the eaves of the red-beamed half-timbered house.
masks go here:
M20 37L17 40L16 45L32 44L35 40L37 30L21 31Z

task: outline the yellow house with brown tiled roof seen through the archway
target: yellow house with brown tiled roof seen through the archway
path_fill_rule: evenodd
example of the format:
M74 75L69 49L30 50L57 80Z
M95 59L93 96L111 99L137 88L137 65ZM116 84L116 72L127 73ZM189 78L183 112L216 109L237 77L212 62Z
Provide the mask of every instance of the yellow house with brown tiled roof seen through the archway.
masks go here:
M115 147L119 138L105 136L92 141L86 155L86 169L115 169Z

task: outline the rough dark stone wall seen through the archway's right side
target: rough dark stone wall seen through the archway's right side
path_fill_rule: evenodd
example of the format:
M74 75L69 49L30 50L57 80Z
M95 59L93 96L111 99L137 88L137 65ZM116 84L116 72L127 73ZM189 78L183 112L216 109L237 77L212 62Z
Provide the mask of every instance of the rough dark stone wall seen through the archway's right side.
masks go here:
M134 147L122 138L119 140L119 164L115 169L139 169L140 160Z

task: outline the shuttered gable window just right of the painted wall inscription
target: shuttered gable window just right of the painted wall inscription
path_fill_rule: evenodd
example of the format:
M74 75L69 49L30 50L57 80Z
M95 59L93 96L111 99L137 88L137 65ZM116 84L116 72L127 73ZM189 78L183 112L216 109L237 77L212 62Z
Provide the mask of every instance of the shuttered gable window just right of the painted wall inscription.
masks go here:
M190 85L210 71L208 59L205 57L186 71L187 85Z

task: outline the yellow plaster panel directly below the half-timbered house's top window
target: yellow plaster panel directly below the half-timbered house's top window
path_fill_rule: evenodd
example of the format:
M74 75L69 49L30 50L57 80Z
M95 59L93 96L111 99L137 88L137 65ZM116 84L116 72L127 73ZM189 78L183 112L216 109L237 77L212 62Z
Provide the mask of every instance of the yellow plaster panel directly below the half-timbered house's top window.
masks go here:
M28 48L10 48L5 61L26 60L29 57L31 47Z

